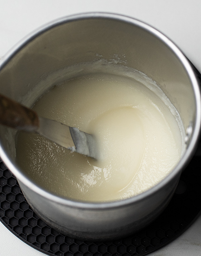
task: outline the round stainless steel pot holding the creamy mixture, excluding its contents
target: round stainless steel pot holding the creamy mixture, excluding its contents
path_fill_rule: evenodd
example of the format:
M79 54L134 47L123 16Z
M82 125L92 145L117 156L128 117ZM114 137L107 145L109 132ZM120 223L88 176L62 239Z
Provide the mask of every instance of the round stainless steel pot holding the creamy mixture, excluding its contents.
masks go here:
M187 132L181 161L152 189L107 203L74 202L53 195L16 165L13 131L0 127L0 156L17 177L30 206L50 226L82 239L128 235L152 222L167 206L200 132L201 95L194 71L166 36L138 20L109 13L85 13L49 23L27 36L0 62L0 93L19 101L55 70L115 56L122 59L121 65L140 70L161 86Z

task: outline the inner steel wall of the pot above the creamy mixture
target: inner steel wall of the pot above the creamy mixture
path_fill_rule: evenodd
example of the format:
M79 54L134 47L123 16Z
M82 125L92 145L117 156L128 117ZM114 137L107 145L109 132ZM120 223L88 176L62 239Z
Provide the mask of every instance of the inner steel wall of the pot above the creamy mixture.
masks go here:
M194 120L194 92L178 57L144 28L120 20L73 20L33 36L0 70L0 93L21 101L48 74L101 58L155 80L179 111L185 129ZM0 127L0 137L14 161L13 131Z

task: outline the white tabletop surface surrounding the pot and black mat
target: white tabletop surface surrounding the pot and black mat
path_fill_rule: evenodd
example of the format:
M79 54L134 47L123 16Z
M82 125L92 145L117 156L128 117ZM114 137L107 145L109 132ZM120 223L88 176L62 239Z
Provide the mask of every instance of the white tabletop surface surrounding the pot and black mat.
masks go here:
M0 0L0 57L41 25L83 12L120 13L150 24L173 40L201 72L200 0ZM149 255L201 256L201 216L173 243ZM45 254L0 222L0 256Z

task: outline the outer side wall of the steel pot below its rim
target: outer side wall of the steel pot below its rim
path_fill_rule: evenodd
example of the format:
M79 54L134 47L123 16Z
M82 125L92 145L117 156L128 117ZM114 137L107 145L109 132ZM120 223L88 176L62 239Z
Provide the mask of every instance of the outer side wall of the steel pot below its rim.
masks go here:
M128 236L154 221L174 195L179 177L143 200L99 209L56 203L19 184L33 211L50 227L73 238L96 241Z

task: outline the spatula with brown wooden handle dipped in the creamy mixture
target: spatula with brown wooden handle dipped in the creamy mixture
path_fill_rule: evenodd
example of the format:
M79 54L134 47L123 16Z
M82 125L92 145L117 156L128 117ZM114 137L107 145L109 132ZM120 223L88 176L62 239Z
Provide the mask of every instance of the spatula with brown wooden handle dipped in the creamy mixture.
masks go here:
M93 135L55 120L39 117L35 111L0 94L0 124L40 134L73 152L97 159Z

